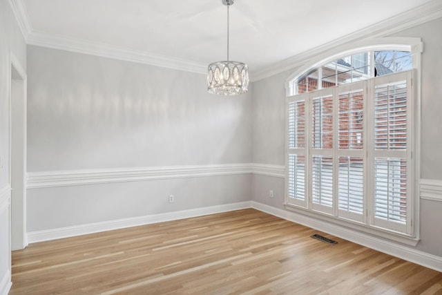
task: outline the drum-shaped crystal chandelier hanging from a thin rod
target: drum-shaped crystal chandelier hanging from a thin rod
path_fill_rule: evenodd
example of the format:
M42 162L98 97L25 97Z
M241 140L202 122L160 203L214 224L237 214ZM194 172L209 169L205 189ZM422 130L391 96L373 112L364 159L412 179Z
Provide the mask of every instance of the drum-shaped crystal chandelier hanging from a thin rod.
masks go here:
M209 64L207 72L207 91L219 95L238 95L247 93L249 68L239 61L229 61L229 6L233 0L222 0L227 6L227 61Z

